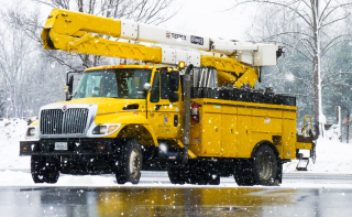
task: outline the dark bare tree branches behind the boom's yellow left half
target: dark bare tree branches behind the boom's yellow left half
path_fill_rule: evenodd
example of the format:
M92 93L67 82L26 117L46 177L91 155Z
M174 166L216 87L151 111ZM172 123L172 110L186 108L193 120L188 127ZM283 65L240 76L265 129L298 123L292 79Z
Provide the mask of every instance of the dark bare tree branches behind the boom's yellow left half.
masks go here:
M176 14L176 11L172 9L172 0L32 0L40 4L46 4L52 8L61 8L67 10L76 10L95 15L101 15L112 19L129 19L141 23L147 24L161 24ZM21 17L21 14L13 14L13 18ZM23 26L32 26L29 34L35 34L36 41L38 39L37 17L31 15L30 19L21 19ZM35 26L35 29L33 29ZM101 35L103 36L103 35ZM106 36L109 39L109 36ZM45 51L45 54L53 61L58 62L62 65L66 65L72 69L82 69L91 66L107 64L107 58L102 56L87 55L87 54L73 54L69 59L76 59L76 62L67 61L58 52ZM77 65L78 63L81 63ZM73 64L76 63L76 64Z

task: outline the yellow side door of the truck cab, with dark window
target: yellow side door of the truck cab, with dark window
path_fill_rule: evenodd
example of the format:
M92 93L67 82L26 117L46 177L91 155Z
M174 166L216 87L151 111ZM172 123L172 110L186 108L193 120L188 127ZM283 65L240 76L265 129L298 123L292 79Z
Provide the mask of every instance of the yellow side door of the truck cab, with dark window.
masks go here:
M152 90L147 101L147 119L157 139L176 139L180 134L180 88L178 101L170 102L169 73L156 69L152 78Z

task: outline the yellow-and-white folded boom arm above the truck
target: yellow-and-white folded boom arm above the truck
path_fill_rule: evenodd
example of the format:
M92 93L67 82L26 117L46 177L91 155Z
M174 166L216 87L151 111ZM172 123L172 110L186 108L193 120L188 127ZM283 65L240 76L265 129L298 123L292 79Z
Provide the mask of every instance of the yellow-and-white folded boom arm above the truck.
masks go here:
M95 34L95 35L94 35ZM204 52L220 53L227 57L201 55L199 52L169 47L151 47L141 44L117 42L99 35L133 41L190 47ZM179 31L141 24L133 21L113 20L85 13L54 9L42 32L46 50L129 58L154 64L213 66L219 82L241 87L254 86L258 77L256 66L276 65L275 44L253 44L213 40Z

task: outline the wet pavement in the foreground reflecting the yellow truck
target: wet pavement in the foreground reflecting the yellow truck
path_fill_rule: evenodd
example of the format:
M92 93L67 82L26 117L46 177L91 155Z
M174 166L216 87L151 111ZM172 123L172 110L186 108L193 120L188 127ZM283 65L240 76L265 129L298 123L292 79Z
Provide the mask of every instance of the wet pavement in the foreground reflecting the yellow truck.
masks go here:
M352 216L352 189L3 187L0 216Z

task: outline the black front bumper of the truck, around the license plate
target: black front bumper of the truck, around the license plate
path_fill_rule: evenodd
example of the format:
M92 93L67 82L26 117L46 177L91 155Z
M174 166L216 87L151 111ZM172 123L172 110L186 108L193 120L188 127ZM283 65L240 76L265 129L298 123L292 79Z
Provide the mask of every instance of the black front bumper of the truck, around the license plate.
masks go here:
M67 142L67 150L55 150L55 142ZM116 154L114 139L45 139L20 141L20 155L97 155Z

